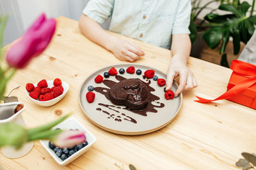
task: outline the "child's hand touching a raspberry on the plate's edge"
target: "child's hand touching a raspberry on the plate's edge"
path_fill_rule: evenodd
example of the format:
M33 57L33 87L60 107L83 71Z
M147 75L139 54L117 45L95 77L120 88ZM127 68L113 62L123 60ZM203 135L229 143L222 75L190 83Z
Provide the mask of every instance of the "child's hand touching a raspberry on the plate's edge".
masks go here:
M180 60L180 57L173 56L168 69L166 90L170 90L172 88L173 79L177 76L180 76L180 82L179 87L175 92L175 97L178 96L182 90L190 90L197 87L194 74L188 69L186 64Z

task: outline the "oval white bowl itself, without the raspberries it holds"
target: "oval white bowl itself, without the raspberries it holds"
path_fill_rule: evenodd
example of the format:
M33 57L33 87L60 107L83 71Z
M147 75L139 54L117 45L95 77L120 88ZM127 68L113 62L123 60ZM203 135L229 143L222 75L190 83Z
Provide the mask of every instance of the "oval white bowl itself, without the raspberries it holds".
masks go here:
M62 87L63 87L63 94L61 94L61 96L58 96L54 99L51 99L49 101L39 101L38 99L33 99L29 96L29 92L26 90L26 94L29 97L29 99L31 99L31 101L33 101L34 103L40 105L40 106L52 106L53 104L58 103L58 101L60 101L67 93L69 86L68 83L66 83L65 81L61 81L62 82ZM53 85L53 80L47 80L47 84L49 88L54 87ZM37 83L33 84L35 87L37 86Z

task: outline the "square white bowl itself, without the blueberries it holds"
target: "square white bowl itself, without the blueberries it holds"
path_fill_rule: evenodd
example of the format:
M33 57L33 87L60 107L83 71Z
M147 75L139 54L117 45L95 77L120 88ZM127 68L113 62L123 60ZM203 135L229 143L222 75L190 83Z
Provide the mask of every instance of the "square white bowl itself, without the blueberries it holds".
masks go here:
M56 128L60 128L61 130L79 129L81 131L84 131L84 134L86 136L86 141L88 141L88 145L86 145L83 148L81 148L81 150L78 150L76 153L74 153L73 155L71 155L67 159L61 160L56 155L56 153L54 153L53 150L51 148L49 148L49 141L48 140L40 140L40 143L44 146L45 150L47 150L47 152L50 153L52 158L54 160L56 160L56 162L58 164L60 164L61 166L65 166L65 165L69 164L70 162L72 162L73 160L75 160L78 157L80 157L81 155L83 155L83 153L85 153L89 148L91 148L93 143L95 143L95 141L97 141L95 136L93 136L93 134L90 131L88 131L82 124L80 124L73 117L68 118L67 120L61 122L60 124L56 125L52 129L56 129Z

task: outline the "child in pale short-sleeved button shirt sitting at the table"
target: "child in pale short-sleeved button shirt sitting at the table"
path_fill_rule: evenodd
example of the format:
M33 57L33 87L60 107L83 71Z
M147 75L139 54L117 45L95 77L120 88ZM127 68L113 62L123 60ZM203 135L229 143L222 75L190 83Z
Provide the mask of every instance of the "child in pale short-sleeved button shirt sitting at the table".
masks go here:
M144 55L130 41L118 39L104 31L102 24L111 17L109 31L152 45L172 49L173 57L166 78L166 90L180 76L178 96L182 90L197 86L195 76L186 66L191 50L189 39L190 0L90 0L83 10L79 27L83 34L111 51L118 59L133 62Z

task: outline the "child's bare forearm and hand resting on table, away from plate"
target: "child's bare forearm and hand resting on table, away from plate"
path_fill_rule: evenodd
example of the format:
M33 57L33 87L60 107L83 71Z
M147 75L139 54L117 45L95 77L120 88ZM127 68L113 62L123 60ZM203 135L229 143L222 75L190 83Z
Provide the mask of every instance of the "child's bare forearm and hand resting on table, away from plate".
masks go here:
M79 27L84 36L111 51L120 60L133 62L144 55L138 45L108 34L97 22L86 15L81 16Z

